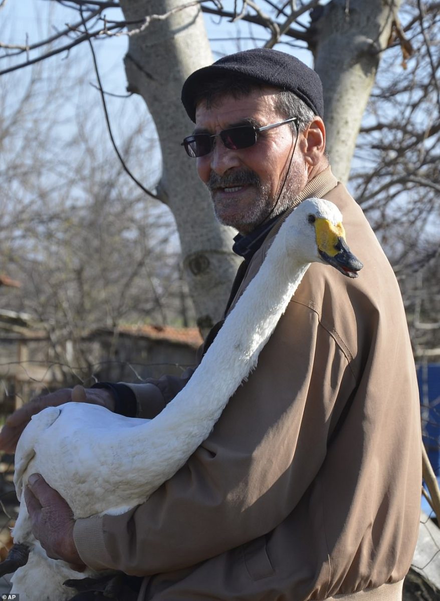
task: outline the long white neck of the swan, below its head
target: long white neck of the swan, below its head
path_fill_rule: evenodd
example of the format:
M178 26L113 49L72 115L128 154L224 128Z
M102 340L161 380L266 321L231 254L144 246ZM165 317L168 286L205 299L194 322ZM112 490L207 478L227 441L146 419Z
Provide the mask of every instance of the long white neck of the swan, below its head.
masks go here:
M207 438L230 397L255 367L307 271L309 264L292 263L292 251L286 257L280 233L185 388L150 422L118 436L120 456L136 456L133 485L142 481L141 466L145 467L147 496Z

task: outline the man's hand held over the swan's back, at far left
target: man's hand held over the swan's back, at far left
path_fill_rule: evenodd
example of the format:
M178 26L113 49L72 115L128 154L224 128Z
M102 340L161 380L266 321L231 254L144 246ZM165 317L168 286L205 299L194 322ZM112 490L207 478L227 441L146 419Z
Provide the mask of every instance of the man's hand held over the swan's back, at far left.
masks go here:
M75 403L91 403L101 405L113 411L115 408L114 397L111 392L105 388L61 388L56 392L51 392L42 397L36 397L17 409L5 421L5 425L0 432L0 449L5 453L14 453L18 439L21 433L29 423L32 415L39 413L46 407L57 407L69 401Z

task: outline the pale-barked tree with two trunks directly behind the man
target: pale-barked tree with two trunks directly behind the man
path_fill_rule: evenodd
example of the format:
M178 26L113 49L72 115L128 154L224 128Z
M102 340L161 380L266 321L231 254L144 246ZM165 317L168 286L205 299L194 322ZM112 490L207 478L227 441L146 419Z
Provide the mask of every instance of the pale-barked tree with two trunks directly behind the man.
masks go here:
M261 0L257 4L244 2L240 10L236 3L233 11L225 11L215 2L182 0L122 0L120 4L71 0L65 4L76 11L77 22L66 30L75 36L73 41L66 44L63 32L58 34L58 40L64 40L64 49L127 31L129 90L144 97L156 123L163 155L159 196L176 216L199 323L208 326L224 306L234 261L228 252L230 239L215 225L206 192L196 180L189 179L192 175L187 157L179 154L176 144L176 139L181 139L191 127L179 103L182 83L192 70L209 63L211 58L201 11L222 19L255 23L263 31L266 46L295 39L313 50L325 87L331 161L336 174L346 180L380 56L394 43L390 41L392 31L399 32L397 44L404 46L406 42L397 16L400 1L332 0L321 4L311 0L284 4ZM123 10L124 20L105 17L106 10L118 7ZM269 10L268 14L263 7ZM415 13L417 10L420 13L421 8L414 7ZM306 13L311 17L308 24ZM43 46L40 43L39 47ZM183 180L188 182L186 189L191 190L191 206ZM196 223L200 224L197 228ZM215 301L207 301L209 298Z

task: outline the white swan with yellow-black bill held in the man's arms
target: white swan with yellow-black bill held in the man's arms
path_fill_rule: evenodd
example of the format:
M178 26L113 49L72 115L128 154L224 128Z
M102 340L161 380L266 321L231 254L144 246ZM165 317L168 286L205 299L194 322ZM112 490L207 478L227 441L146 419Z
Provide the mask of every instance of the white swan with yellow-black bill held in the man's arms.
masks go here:
M17 444L14 475L20 499L14 542L30 551L28 563L13 576L11 592L19 593L21 601L64 601L72 596L63 586L66 579L96 576L47 558L31 532L23 493L28 476L43 475L69 503L75 519L120 514L144 502L207 438L255 368L313 261L350 278L362 268L346 246L340 211L319 198L303 201L284 220L188 384L154 419L126 418L73 402L32 416Z

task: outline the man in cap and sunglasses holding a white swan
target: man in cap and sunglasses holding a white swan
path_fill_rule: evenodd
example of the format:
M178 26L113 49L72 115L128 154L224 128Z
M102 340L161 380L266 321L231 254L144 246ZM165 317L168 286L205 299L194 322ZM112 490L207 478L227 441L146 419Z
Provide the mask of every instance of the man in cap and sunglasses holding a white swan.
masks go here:
M148 501L75 522L34 477L34 533L50 557L80 569L144 576L139 601L397 601L420 508L414 362L393 270L328 166L319 78L292 56L248 50L193 73L182 100L196 124L186 151L216 215L240 233L245 260L227 310L307 197L341 209L364 270L353 280L310 267L213 432ZM153 417L191 373L103 385L87 400ZM35 410L70 395L40 398ZM4 442L32 411L11 417Z

